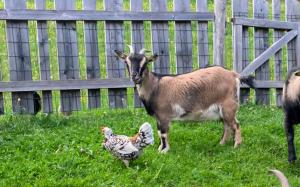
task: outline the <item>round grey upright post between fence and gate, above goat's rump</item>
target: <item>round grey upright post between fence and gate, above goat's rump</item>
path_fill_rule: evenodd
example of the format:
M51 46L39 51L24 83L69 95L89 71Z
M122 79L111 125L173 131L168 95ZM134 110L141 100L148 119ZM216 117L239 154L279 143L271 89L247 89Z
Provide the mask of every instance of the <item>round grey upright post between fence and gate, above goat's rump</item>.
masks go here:
M214 64L224 66L226 1L215 0Z

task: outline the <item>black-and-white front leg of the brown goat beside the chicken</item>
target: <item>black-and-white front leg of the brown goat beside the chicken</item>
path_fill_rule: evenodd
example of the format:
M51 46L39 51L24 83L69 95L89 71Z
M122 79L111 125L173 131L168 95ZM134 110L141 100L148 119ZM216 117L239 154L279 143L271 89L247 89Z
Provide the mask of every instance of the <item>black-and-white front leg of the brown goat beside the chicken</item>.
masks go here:
M170 149L170 145L168 142L169 125L169 121L157 121L158 136L160 138L160 145L158 147L158 151L160 153L167 153Z

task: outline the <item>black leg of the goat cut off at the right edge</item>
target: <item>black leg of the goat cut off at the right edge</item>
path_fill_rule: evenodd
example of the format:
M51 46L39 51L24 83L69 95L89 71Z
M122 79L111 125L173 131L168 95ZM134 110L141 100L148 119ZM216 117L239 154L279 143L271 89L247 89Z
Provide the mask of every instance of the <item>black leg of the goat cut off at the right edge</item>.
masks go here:
M294 127L293 123L290 122L288 117L285 117L285 134L288 142L288 155L289 155L289 162L294 162L296 157L295 145L294 145Z

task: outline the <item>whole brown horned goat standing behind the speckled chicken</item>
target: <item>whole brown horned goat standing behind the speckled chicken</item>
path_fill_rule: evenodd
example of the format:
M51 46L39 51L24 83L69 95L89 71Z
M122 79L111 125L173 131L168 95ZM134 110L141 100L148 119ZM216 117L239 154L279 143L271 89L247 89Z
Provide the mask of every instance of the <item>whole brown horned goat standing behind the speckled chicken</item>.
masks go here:
M251 78L222 67L199 69L182 75L159 75L148 70L147 64L157 55L145 56L145 50L130 54L115 50L126 63L129 75L136 85L139 98L149 115L157 121L161 140L159 151L169 150L168 131L172 120L222 119L224 133L220 144L234 131L234 147L242 142L241 130L236 120L239 108L240 80L251 84Z

